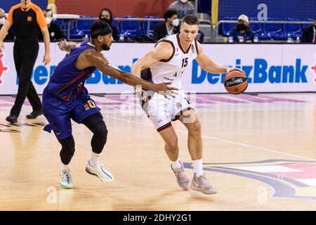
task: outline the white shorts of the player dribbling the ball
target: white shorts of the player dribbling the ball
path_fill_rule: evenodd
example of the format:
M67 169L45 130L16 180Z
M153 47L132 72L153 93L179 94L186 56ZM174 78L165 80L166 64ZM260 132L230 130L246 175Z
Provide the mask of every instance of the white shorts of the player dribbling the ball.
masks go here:
M176 98L171 97L170 100L154 93L150 101L143 103L143 110L145 110L157 131L162 131L171 126L171 121L178 120L183 112L195 110L195 106L187 99L184 91L180 90Z

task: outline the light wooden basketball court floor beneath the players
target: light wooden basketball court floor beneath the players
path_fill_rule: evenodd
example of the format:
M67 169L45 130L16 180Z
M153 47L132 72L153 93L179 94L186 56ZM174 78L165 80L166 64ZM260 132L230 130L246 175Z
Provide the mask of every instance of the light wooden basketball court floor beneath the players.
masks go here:
M0 210L316 210L316 94L190 95L202 122L204 169L218 193L182 191L164 143L133 95L91 97L109 136L101 162L110 184L85 172L91 132L74 124L73 190L58 186L60 146L46 120L5 118L0 96ZM192 177L187 132L174 122L180 160Z

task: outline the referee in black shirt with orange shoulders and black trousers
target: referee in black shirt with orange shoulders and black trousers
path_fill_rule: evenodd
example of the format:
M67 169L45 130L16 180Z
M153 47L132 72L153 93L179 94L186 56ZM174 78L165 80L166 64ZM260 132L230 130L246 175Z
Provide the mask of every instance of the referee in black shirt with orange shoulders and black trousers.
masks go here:
M50 39L43 11L39 6L32 4L31 0L21 0L21 3L13 6L6 18L4 26L0 30L0 53L4 49L4 38L11 25L14 25L15 41L13 56L15 69L19 77L18 94L6 120L11 123L18 122L18 116L25 97L31 103L33 111L27 118L34 119L41 115L41 100L31 82L32 70L39 53L38 30L40 28L45 43L44 65L51 62Z

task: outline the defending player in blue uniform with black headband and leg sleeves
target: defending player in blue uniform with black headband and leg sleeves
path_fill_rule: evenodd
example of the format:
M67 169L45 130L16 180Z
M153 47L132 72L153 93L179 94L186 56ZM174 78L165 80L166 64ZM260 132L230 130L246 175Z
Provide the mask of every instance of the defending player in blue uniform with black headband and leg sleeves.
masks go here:
M111 182L114 179L113 175L99 163L100 153L107 142L107 127L99 108L84 87L86 79L96 68L126 84L141 85L145 89L159 91L159 94L165 97L173 96L171 90L177 90L167 86L170 82L152 84L110 65L100 52L110 49L113 41L111 27L98 20L91 25L90 31L92 41L84 41L81 44L62 41L58 44L62 51L69 53L55 68L43 93L42 110L49 122L44 130L53 130L62 146L61 188L73 188L70 170L70 161L74 155L71 119L86 125L93 132L92 153L86 163L86 172L98 176L101 181Z

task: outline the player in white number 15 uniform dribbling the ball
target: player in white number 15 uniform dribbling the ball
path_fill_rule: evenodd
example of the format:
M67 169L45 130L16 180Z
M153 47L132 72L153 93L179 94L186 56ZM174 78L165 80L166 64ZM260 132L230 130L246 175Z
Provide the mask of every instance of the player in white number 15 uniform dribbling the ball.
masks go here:
M193 59L197 60L203 70L215 74L228 73L236 68L225 68L206 56L201 44L195 40L198 31L197 17L186 15L180 27L180 34L159 40L152 51L133 64L131 72L154 83L172 82L171 86L179 89L176 98L171 99L154 94L153 91L146 91L146 95L142 94L143 109L164 139L166 154L171 160L171 169L176 175L178 185L184 190L191 187L195 191L213 194L216 189L209 184L203 172L201 124L195 113L195 106L185 96L181 79L185 68ZM136 90L138 93L139 91ZM180 120L189 131L187 147L194 170L191 186L178 158L178 138L171 125L174 120Z

